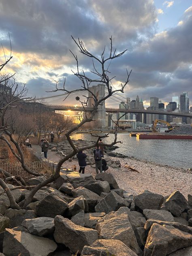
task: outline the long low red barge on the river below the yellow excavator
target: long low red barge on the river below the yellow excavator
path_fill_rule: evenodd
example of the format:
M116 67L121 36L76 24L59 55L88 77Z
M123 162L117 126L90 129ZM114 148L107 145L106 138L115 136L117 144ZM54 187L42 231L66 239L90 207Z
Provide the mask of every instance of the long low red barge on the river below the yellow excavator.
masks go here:
M137 133L136 134L137 139L186 139L191 140L192 135L178 135L178 134L164 134L164 133Z

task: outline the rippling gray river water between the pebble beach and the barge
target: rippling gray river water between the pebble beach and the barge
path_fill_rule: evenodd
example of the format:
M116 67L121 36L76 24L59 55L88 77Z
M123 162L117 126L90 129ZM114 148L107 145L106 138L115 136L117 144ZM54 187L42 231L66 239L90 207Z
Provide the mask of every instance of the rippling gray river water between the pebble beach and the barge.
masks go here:
M76 133L72 137L73 139L95 141L95 138L89 133ZM111 143L113 138L114 135L109 134L109 137L103 139L103 142ZM117 140L123 143L116 144L119 148L115 149L114 152L159 164L182 167L184 169L192 168L192 140L139 140L136 137L130 137L128 132L119 132Z

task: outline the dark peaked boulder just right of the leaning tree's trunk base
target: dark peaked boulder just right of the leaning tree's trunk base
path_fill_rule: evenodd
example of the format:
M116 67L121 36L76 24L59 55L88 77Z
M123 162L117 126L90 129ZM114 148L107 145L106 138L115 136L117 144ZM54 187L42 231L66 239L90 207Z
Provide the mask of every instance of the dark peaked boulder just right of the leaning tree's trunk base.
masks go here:
M68 204L64 199L53 193L48 194L36 205L36 213L39 217L55 218L56 215L63 215L68 209Z

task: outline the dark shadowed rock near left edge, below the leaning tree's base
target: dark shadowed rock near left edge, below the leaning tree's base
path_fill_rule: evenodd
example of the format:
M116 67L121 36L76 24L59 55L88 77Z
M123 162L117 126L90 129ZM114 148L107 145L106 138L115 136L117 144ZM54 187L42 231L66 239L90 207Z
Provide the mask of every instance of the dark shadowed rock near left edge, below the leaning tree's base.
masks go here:
M14 228L16 226L21 226L21 223L23 222L23 220L36 218L36 214L34 211L17 210L17 209L11 209L11 208L9 208L6 211L4 216L10 219L11 228Z

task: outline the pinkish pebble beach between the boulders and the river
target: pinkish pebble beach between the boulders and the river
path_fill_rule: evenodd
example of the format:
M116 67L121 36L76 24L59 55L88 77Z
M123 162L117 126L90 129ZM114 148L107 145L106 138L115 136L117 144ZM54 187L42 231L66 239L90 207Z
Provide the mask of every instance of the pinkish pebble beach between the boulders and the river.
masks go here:
M79 141L77 143L79 143ZM91 151L85 153L88 158L92 156ZM58 162L61 157L62 156L60 156L57 151L49 150L48 152L48 159L53 162ZM109 159L106 155L105 158ZM134 157L117 158L110 156L110 159L114 162L119 161L121 167L113 169L109 166L107 172L114 175L120 188L123 188L131 194L135 195L143 190L150 190L151 192L162 194L163 196L167 196L173 191L179 190L186 198L188 194L192 194L192 171L147 160L139 160ZM107 160L107 162L109 162L109 160ZM71 162L66 161L63 164L64 167L69 169L72 169L74 165L77 166L78 170L77 159L72 159ZM128 166L131 166L138 172L130 170ZM85 167L85 173L96 175L95 168L90 165Z

